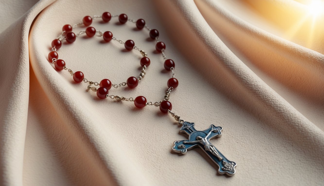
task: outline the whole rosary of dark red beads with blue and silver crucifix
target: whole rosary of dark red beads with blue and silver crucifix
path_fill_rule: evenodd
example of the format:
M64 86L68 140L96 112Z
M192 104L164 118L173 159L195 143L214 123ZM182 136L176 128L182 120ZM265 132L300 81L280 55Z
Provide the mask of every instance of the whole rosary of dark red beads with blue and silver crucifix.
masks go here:
M125 24L127 21L135 23L137 29L139 30L146 28L149 31L149 35L152 38L152 40L156 40L155 48L157 52L162 54L164 60L164 68L168 71L171 71L172 73L172 78L170 78L167 83L168 90L165 92L165 96L162 101L153 103L153 102L147 102L144 96L137 96L134 99L134 98L125 98L125 97L108 94L109 90L112 87L118 88L126 85L129 88L137 87L138 83L141 80L143 80L146 74L146 69L151 63L150 59L147 57L146 52L144 50L141 50L139 47L136 47L133 40L127 40L124 42L114 37L110 31L102 32L90 26L92 24L93 19L102 18L104 22L108 23L111 17L118 17L120 24ZM72 29L79 25L87 26L86 31L80 31L78 34L72 32ZM164 54L166 45L163 42L158 40L159 39L158 30L149 28L145 24L144 19L138 19L137 21L135 21L134 19L129 19L126 14L111 15L109 12L104 12L102 16L94 16L94 17L85 16L82 22L79 22L73 26L64 25L62 30L63 30L62 34L60 34L57 38L55 38L52 41L52 51L48 54L48 59L50 60L50 62L54 64L54 67L57 71L67 70L71 74L71 76L73 76L75 82L80 83L83 81L85 83L89 83L87 89L96 92L97 96L101 99L109 97L111 99L116 99L117 101L130 101L130 102L134 102L134 105L137 108L144 108L145 106L148 105L154 105L156 107L159 107L161 112L169 113L176 121L178 121L179 125L181 125L180 132L183 132L189 136L189 139L187 140L174 141L174 146L172 148L174 152L186 154L187 150L191 150L194 147L200 147L207 154L207 156L218 166L219 174L226 174L228 176L232 176L235 174L236 163L227 160L227 158L221 152L219 152L219 150L217 150L216 147L209 141L210 139L213 139L215 137L221 137L222 129L223 129L222 127L216 127L214 125L210 125L208 129L199 131L195 129L194 123L182 120L180 116L176 115L174 112L171 111L172 104L168 100L171 91L174 88L178 87L179 82L178 79L174 78L175 63L172 59L166 58ZM135 49L141 53L141 55L143 56L140 60L140 65L142 67L142 70L138 78L132 76L128 78L126 82L122 82L120 84L112 84L109 79L102 79L100 83L98 83L97 81L93 82L87 80L81 71L73 72L71 69L66 67L64 60L58 59L58 54L56 50L62 47L62 42L64 40L67 43L73 43L76 40L76 37L80 36L81 34L86 34L88 37L93 37L97 33L107 43L110 42L111 40L115 40L118 41L120 44L124 44L125 49L128 51ZM99 86L99 87L96 88L95 86L97 87Z

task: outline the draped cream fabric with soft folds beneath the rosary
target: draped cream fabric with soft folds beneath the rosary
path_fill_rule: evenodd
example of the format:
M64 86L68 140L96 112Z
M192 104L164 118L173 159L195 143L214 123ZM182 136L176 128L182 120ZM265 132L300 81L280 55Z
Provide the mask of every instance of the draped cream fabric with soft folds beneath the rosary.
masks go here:
M307 1L4 0L0 28L2 185L322 185L324 16ZM212 143L237 163L233 177L200 149L172 153L174 119L154 106L99 100L57 72L47 55L64 24L126 13L160 32L176 63L172 110L197 129L223 127ZM161 100L170 74L148 31L95 19L91 26L133 39L151 59L135 89L111 95ZM75 28L75 33L84 30ZM139 74L140 54L80 36L58 50L73 71L121 83Z

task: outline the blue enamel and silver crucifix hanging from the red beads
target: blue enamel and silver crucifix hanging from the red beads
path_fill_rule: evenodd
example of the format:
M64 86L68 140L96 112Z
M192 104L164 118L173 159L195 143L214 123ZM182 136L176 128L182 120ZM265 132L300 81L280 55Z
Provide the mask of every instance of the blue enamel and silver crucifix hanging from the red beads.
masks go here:
M175 141L172 150L177 153L186 154L187 150L191 150L194 147L200 147L219 167L218 172L220 174L233 176L235 174L236 163L227 160L227 158L209 142L209 139L221 137L222 129L222 127L210 125L208 129L199 131L195 129L194 123L184 121L180 131L189 135L189 140Z

